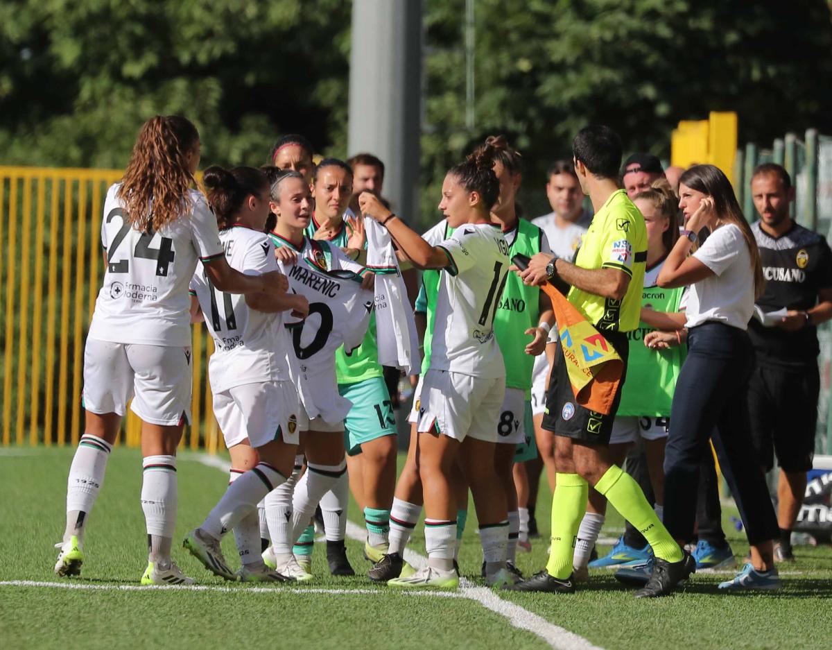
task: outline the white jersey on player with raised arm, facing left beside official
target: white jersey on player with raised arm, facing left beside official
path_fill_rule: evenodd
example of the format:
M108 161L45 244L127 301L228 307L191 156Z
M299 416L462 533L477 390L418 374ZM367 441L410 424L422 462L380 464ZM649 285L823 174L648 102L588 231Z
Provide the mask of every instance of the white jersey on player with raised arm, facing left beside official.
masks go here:
M450 264L439 280L431 369L504 376L494 337L494 313L510 264L503 232L493 224L464 224L438 246Z

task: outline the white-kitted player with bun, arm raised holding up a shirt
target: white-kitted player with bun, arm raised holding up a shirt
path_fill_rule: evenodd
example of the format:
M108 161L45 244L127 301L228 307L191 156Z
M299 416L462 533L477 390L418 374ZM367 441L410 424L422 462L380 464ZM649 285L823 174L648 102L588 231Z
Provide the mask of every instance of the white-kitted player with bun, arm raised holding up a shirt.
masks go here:
M493 462L498 438L494 424L505 397L505 366L493 320L509 260L503 233L491 223L489 211L499 184L486 149L445 176L439 209L456 231L439 246L410 230L376 196L364 192L359 197L362 213L386 227L415 266L445 270L417 425L428 567L409 578L390 580L394 586L458 586L453 568L457 500L451 475L457 460L473 492L488 583L513 582L505 568L506 499Z

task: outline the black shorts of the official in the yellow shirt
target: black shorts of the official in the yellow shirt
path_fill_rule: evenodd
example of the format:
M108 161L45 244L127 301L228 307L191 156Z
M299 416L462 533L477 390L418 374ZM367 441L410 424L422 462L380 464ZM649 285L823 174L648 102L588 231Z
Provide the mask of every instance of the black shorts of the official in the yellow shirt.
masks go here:
M563 361L563 350L557 346L555 362L552 365L552 379L546 393L546 414L543 415L543 429L553 431L555 435L565 438L582 440L591 444L610 444L612 422L616 419L618 404L622 399L622 389L626 379L626 361L629 353L629 342L626 333L602 331L602 335L615 348L622 361L624 370L622 380L618 385L612 409L607 415L584 408L575 401L572 385L567 374L567 365Z

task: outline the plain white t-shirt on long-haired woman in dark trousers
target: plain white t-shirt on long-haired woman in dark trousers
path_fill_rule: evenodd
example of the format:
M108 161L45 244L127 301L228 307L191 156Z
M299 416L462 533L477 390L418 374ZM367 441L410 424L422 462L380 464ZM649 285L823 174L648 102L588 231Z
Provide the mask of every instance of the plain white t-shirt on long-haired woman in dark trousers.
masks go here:
M713 320L747 329L754 312L754 269L740 226L717 228L693 256L715 275L695 282L688 290L686 325Z

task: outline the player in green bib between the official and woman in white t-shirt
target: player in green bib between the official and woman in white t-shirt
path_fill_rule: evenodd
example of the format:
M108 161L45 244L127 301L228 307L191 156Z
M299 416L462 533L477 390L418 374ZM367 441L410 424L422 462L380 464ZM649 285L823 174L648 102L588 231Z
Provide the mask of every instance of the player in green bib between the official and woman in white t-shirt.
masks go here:
M641 437L656 496L656 514L661 519L664 495L662 463L671 401L684 360L684 350L679 346L672 350L654 350L646 346L644 339L651 331L681 330L685 325L684 312L680 313L683 309L683 287L664 289L656 285L667 254L679 238L679 227L676 223L676 195L666 181L656 181L650 190L634 196L633 202L644 216L647 229L647 264L641 295L641 323L630 333L627 380L612 425L610 454L613 463L622 465L627 450ZM590 489L587 513L578 529L572 562L576 579L588 579L587 562L606 512L607 499L595 489ZM613 557L615 550L613 548L611 553Z

